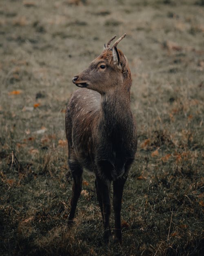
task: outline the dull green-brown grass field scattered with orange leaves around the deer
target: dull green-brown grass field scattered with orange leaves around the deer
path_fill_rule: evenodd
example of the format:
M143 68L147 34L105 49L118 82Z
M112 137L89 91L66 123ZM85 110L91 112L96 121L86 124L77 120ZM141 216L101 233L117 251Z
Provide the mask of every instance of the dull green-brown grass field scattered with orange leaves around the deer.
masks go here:
M93 174L67 226L65 108L72 77L123 33L138 150L123 244L106 247ZM204 255L203 87L203 0L1 0L0 255Z

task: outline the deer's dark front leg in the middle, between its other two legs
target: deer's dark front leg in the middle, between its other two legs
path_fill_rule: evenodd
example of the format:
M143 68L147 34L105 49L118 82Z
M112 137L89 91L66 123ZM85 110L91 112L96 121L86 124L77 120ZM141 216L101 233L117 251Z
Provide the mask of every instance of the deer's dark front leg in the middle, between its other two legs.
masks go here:
M110 242L110 215L111 215L111 199L110 199L110 181L104 181L96 178L97 197L101 208L103 224L104 224L104 241L106 244Z

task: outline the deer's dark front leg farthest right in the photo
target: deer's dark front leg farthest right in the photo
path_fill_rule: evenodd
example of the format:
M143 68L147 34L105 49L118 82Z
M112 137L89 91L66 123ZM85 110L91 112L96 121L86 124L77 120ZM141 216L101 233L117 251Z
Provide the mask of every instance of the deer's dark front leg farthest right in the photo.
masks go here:
M113 181L113 209L115 215L115 242L122 243L122 232L121 232L121 205L122 205L122 193L126 179L118 179Z

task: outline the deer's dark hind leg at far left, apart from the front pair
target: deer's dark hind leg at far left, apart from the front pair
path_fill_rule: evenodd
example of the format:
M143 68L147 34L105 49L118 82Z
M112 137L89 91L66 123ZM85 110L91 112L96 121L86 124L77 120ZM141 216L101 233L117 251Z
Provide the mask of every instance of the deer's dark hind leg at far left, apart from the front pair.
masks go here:
M72 186L72 197L71 197L71 211L69 213L69 222L73 222L73 218L76 211L76 206L78 203L78 199L80 197L81 191L82 191L82 168L78 163L71 163L69 161L69 168L71 170L71 174L73 177L73 186Z

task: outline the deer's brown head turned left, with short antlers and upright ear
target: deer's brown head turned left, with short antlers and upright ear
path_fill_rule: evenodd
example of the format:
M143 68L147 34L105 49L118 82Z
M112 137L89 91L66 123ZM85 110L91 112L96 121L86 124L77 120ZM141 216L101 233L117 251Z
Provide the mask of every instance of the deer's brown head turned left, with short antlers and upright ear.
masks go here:
M73 77L72 82L75 85L98 91L101 94L120 88L129 66L124 54L117 49L118 43L112 48L109 47L110 43L109 41L102 54L93 60L86 70Z

